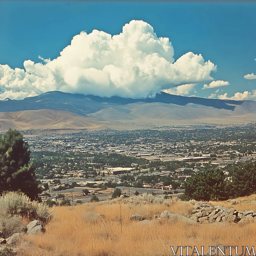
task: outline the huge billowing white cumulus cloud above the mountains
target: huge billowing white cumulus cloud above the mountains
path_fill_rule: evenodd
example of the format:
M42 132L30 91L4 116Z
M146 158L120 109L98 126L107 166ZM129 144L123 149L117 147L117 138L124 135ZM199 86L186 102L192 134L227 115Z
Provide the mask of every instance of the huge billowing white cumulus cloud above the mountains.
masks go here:
M216 66L188 52L176 62L169 38L157 37L142 20L125 24L122 33L81 32L54 60L24 61L24 69L0 65L0 99L22 99L48 91L110 97L154 97L182 84L212 81ZM4 92L3 92L4 91Z

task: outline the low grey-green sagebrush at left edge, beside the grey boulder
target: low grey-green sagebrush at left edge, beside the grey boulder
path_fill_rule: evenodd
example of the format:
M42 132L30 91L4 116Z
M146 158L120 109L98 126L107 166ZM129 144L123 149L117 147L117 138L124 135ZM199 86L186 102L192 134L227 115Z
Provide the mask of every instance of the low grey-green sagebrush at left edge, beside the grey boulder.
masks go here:
M14 233L22 232L26 228L21 216L5 216L0 218L0 237L8 238Z

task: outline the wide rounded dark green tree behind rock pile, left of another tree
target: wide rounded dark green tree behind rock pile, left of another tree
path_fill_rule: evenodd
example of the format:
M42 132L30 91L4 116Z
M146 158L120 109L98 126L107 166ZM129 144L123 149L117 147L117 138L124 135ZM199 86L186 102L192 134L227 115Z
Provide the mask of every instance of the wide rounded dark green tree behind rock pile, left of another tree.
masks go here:
M226 175L220 169L207 169L192 173L183 183L188 199L202 201L225 200L229 197L229 186Z

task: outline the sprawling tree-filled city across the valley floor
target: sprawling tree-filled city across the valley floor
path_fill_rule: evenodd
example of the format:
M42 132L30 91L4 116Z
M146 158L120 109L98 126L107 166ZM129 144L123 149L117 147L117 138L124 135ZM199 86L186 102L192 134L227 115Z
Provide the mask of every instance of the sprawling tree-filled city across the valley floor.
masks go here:
M256 125L154 127L135 131L87 131L32 135L24 132L31 161L42 182L43 200L85 203L153 193L182 199L191 173L234 167L256 160Z

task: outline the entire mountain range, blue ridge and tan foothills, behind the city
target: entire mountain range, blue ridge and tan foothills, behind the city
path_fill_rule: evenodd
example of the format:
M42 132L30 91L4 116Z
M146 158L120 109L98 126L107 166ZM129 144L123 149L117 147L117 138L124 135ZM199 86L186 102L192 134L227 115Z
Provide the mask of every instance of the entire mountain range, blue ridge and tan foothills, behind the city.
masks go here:
M161 92L155 98L106 98L46 92L23 100L0 100L1 131L28 129L138 129L185 124L256 121L256 101L185 97Z

